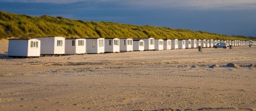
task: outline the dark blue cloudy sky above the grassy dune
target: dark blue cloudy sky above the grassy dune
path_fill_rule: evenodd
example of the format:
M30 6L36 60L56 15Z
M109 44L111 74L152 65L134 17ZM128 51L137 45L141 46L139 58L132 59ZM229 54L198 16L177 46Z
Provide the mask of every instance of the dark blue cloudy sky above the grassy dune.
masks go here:
M256 36L256 0L0 0L0 10Z

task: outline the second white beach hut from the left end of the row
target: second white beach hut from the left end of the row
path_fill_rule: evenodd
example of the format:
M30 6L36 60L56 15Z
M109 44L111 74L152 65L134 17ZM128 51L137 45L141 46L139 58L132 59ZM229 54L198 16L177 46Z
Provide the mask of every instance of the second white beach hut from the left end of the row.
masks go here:
M42 55L54 55L65 54L65 38L55 37L39 37L41 40L41 54Z

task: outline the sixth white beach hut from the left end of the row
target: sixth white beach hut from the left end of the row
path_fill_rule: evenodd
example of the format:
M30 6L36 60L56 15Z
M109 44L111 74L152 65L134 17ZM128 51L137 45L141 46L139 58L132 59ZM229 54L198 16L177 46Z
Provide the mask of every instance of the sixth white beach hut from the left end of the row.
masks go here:
M120 39L120 51L123 51L123 52L133 51L133 39L132 38Z

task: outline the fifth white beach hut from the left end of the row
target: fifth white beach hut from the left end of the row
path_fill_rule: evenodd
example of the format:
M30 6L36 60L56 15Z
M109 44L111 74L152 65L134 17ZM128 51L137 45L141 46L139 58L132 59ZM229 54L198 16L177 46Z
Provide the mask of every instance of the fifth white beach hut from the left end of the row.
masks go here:
M119 38L105 38L105 52L120 52Z

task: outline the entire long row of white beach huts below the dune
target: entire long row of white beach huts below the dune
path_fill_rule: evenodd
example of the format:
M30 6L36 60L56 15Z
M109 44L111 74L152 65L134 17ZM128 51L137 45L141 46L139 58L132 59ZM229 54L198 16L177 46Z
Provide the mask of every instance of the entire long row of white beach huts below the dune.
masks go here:
M40 55L98 54L104 52L129 52L143 50L170 50L185 48L211 48L215 44L249 46L255 41L242 40L170 40L154 38L63 38L43 37L30 39L9 39L9 57L40 57Z

